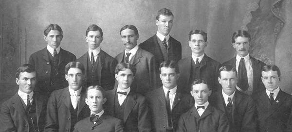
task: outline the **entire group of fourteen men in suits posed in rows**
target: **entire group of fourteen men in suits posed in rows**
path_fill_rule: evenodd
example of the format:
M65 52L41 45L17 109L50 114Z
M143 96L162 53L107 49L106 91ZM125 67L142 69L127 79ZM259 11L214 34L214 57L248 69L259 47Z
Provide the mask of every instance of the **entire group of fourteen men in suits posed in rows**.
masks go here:
M292 132L292 97L281 73L248 53L251 36L232 36L236 57L208 57L207 33L189 33L191 56L169 35L173 14L161 9L157 33L137 45L138 30L120 30L115 58L100 48L92 24L88 51L76 60L60 48L62 29L44 30L47 47L16 72L18 93L0 107L0 132Z

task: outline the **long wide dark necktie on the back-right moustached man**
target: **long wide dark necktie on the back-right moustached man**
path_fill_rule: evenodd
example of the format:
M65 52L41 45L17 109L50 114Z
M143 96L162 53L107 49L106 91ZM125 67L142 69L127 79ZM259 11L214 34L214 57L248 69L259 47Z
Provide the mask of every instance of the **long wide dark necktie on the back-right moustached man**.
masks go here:
M247 74L246 74L246 68L245 68L245 64L244 64L244 59L241 58L239 65L238 65L238 82L237 82L237 86L242 89L242 90L247 90L247 88L249 87L248 85L248 80L247 80Z

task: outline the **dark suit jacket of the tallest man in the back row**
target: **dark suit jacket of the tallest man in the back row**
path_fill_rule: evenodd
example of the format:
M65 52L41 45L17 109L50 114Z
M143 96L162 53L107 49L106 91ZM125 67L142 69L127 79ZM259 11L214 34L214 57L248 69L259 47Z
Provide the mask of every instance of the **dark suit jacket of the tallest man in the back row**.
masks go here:
M157 87L162 86L162 83L161 83L160 77L159 77L159 74L160 74L159 66L165 60L164 60L162 51L161 51L159 43L158 43L156 33L152 37L148 38L146 41L141 43L139 45L139 47L141 49L149 51L150 53L152 53L155 56ZM174 39L173 37L169 36L168 47L171 48L171 56L174 57L174 58L172 58L172 60L175 62L179 62L179 60L182 59L182 44L181 44L181 42L179 42L176 39Z

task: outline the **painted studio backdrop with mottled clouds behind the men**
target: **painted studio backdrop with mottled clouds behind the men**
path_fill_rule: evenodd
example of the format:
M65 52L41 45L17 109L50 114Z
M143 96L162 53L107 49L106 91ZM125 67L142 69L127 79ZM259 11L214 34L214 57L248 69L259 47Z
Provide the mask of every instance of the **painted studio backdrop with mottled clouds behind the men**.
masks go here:
M292 0L0 0L0 103L18 90L16 69L46 47L47 25L62 28L61 47L79 58L88 50L87 27L97 24L104 32L101 48L114 57L124 48L120 28L135 25L142 43L156 33L161 8L174 14L170 35L182 43L183 58L191 54L191 29L208 33L206 54L220 63L235 56L232 33L248 30L250 55L279 66L281 88L291 93Z

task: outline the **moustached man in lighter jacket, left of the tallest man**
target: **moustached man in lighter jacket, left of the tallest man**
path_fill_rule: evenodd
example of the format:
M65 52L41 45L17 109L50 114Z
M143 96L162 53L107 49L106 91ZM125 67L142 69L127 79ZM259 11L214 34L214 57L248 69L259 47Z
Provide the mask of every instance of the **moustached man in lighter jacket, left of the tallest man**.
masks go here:
M135 26L125 25L121 28L120 34L125 45L125 50L118 54L115 59L118 63L129 63L136 67L137 72L131 89L145 95L147 92L156 88L154 55L139 48L137 45L139 33Z

